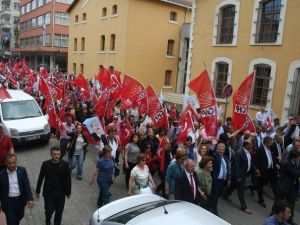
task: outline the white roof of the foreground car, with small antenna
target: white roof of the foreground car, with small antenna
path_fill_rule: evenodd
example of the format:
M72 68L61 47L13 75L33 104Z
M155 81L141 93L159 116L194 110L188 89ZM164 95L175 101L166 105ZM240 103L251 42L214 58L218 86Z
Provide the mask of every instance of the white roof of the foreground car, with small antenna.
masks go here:
M166 204L165 209L168 212L167 214L163 207L158 207L134 217L127 224L230 225L209 211L189 202L177 201Z

